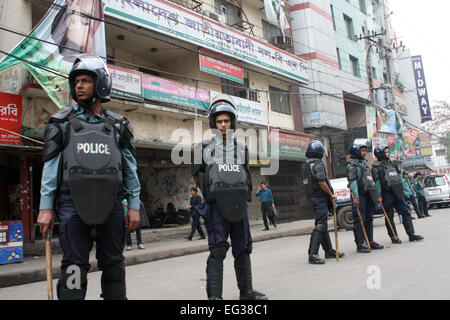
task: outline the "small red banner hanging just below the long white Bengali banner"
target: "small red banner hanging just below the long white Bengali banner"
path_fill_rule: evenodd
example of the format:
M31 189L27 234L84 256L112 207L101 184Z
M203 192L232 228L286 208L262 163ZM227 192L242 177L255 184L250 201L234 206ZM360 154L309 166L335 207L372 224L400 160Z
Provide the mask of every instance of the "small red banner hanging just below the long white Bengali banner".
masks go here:
M202 52L202 51L200 51ZM200 71L213 74L215 76L228 79L237 83L244 84L244 69L236 66L232 63L223 61L221 59L215 59L211 53L199 54Z

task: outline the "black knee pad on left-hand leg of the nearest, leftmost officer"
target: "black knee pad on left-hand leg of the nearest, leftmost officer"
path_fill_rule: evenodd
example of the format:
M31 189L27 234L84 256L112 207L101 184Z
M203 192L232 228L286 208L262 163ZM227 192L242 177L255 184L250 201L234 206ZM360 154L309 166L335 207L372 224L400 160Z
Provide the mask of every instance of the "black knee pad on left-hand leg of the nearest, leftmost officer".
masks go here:
M61 278L56 284L58 300L84 300L87 289L87 270L71 265L61 270Z

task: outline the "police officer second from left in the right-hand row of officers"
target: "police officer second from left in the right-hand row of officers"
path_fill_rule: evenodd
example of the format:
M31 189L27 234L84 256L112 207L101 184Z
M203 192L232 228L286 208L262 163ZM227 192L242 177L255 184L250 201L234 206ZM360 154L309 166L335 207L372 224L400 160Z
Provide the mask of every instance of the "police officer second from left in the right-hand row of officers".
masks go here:
M355 236L356 251L360 253L369 253L371 249L384 248L384 246L373 241L372 210L375 204L378 204L378 195L369 166L364 162L367 147L367 139L356 139L350 146L351 159L347 163L347 180L352 192L353 203L353 234ZM364 243L363 229L357 213L357 207L361 213L370 249Z

